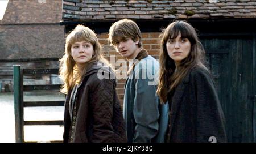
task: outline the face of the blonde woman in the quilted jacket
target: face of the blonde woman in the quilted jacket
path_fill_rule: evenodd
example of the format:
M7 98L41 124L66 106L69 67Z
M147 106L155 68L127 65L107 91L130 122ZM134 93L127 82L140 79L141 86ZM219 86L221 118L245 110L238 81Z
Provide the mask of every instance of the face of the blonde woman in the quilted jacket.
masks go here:
M75 42L71 46L71 56L77 65L82 65L92 59L93 45L87 41Z

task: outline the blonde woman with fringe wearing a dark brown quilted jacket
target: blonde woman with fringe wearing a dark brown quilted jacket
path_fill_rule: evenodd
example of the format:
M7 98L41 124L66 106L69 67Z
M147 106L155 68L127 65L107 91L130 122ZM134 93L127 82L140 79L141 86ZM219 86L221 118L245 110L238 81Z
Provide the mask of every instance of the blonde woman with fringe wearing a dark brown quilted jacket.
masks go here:
M66 93L64 142L126 142L126 131L115 91L115 80L101 55L96 34L83 25L67 36L60 76Z

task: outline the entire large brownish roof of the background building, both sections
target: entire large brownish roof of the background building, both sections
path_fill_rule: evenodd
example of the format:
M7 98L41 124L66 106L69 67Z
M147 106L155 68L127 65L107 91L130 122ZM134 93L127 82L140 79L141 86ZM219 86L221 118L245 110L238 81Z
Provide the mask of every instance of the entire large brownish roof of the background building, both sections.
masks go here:
M0 20L0 61L62 57L61 8L61 1L9 1Z

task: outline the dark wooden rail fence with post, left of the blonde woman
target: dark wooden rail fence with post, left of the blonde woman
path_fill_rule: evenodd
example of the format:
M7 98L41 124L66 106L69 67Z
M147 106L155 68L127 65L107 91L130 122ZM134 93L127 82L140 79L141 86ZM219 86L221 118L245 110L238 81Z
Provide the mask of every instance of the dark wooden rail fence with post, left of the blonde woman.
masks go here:
M61 84L23 85L23 75L58 74L59 69L20 69L20 65L13 67L14 80L14 109L15 109L15 139L24 141L25 125L63 125L63 121L24 121L24 108L42 106L64 106L64 101L23 101L24 91L52 91L59 90ZM29 141L28 141L29 142ZM50 142L62 142L52 140Z

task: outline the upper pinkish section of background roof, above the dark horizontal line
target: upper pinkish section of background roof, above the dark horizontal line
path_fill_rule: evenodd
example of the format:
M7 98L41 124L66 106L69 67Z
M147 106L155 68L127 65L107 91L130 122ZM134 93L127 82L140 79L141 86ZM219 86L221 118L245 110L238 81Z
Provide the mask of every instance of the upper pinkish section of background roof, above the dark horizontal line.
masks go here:
M9 1L0 24L59 23L61 10L61 1Z

